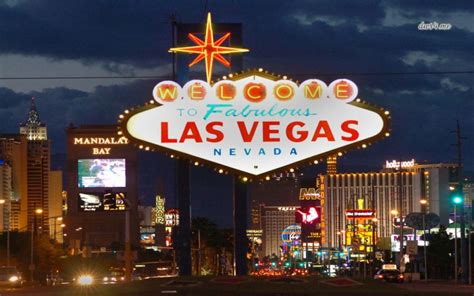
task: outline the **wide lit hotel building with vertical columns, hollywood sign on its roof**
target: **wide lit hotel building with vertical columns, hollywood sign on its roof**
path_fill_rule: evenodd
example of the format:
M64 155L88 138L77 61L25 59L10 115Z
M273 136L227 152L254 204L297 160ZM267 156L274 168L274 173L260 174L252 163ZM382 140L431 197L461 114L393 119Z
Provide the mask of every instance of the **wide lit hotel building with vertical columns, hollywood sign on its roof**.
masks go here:
M416 164L413 160L397 170L390 165L393 163L387 162L380 172L318 176L325 196L323 241L326 247L350 245L352 233L357 231L365 235L368 245L372 245L373 237L390 237L394 231L394 216L425 210L421 208L421 199L427 200L426 211L439 215L441 224L448 225L451 210L449 186L454 180L456 165ZM375 219L358 218L355 223L347 213L354 210L360 213L374 211ZM353 225L362 228L355 231L351 228ZM374 236L371 235L373 229Z

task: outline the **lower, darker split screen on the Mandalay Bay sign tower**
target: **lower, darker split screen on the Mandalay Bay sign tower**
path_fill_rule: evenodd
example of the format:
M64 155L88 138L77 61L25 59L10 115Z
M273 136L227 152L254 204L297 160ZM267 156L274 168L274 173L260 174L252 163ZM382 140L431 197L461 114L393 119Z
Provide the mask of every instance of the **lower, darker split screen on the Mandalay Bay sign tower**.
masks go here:
M82 212L124 211L125 193L79 193L79 210Z

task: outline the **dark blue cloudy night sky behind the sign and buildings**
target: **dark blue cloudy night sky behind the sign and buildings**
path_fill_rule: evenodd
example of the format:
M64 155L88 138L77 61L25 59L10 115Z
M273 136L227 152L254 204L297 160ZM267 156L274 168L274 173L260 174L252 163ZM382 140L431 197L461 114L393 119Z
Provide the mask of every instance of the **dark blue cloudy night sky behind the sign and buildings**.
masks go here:
M157 1L4 0L0 3L0 133L18 132L37 98L54 154L65 127L113 124L170 78L170 18L242 23L244 68L297 80L349 78L359 96L391 111L392 136L346 154L347 169L379 169L385 159L453 162L456 120L474 171L474 2L466 1ZM420 23L450 30L419 30ZM205 79L202 68L196 75ZM216 66L221 74L226 70ZM410 74L412 73L412 74ZM156 79L97 79L157 76ZM58 79L26 79L55 77ZM82 77L64 79L61 77ZM173 162L145 155L144 203L161 178L172 197ZM323 167L319 167L320 170ZM315 168L314 170L318 170ZM311 174L314 170L306 170ZM309 173L308 173L309 172ZM193 215L231 224L231 179L193 169ZM150 185L153 184L153 185ZM217 185L218 184L218 185ZM173 202L170 200L170 205Z

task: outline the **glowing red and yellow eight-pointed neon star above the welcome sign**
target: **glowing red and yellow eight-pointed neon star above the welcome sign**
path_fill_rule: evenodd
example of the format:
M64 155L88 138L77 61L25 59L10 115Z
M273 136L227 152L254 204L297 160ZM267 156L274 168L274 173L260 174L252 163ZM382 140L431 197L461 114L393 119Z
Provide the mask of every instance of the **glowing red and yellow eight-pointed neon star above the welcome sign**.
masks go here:
M222 65L226 67L230 67L230 62L226 60L222 55L223 54L231 54L231 53L240 53L240 52L248 52L249 50L246 48L237 48L237 47L227 47L221 46L224 41L226 41L230 36L230 33L224 34L221 38L214 41L214 32L212 30L212 21L211 21L211 13L207 14L207 22L206 22L206 32L204 36L204 40L199 39L195 35L189 33L188 38L191 39L196 45L193 46L184 46L184 47L174 47L170 48L171 52L178 53L190 53L190 54L198 54L198 56L189 64L189 67L194 66L195 64L199 63L200 61L204 60L206 63L206 78L207 82L211 82L212 78L212 68L214 66L214 60L217 60Z

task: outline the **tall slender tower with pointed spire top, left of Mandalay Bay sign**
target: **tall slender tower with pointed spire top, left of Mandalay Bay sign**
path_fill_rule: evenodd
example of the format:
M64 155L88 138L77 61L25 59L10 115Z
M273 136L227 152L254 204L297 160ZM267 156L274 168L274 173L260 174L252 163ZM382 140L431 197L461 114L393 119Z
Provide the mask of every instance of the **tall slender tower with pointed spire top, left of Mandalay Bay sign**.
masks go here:
M26 122L20 124L20 134L27 139L27 214L28 230L49 232L49 170L50 146L46 124L40 120L35 99ZM41 209L41 212L37 212ZM23 210L23 208L22 208Z

